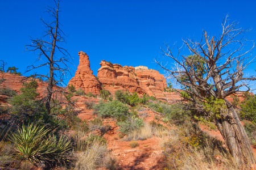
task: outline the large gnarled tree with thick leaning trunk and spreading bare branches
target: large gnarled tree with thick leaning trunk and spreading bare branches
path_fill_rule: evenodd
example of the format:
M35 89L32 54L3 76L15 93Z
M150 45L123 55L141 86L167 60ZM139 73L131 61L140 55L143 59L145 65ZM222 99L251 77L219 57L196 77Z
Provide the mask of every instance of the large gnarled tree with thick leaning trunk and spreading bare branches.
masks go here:
M249 30L238 28L235 22L229 23L226 16L220 36L210 37L204 31L199 42L183 40L191 56L181 55L179 48L174 55L174 48L166 45L167 49L163 50L163 54L174 63L173 67L155 59L160 67L185 87L187 100L196 103L196 109L203 111L206 117L214 118L230 154L240 164L255 163L255 156L241 121L226 97L238 91L250 91L250 81L256 80L254 76L243 73L254 59L251 56L254 44L249 49L245 48L249 41L243 35L247 31ZM216 101L222 100L223 104L213 112L204 105L207 101L210 104L207 99L213 101L212 107L217 104Z

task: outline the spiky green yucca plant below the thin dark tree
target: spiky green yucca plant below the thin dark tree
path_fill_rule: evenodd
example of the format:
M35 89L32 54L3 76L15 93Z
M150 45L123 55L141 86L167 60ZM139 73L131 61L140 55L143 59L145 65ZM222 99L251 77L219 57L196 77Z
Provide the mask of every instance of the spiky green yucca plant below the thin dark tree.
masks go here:
M36 125L23 125L15 134L11 135L16 151L22 160L31 162L57 163L64 159L65 152L71 149L71 141L55 135L48 135L50 129Z

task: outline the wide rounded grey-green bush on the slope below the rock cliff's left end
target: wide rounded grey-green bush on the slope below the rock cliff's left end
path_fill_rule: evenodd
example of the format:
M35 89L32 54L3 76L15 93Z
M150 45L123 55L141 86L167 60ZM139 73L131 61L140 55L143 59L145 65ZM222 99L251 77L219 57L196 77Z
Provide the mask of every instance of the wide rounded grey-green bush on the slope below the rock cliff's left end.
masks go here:
M113 100L103 103L100 101L99 104L93 106L94 112L101 117L122 117L128 116L130 113L129 108L121 103L120 101Z

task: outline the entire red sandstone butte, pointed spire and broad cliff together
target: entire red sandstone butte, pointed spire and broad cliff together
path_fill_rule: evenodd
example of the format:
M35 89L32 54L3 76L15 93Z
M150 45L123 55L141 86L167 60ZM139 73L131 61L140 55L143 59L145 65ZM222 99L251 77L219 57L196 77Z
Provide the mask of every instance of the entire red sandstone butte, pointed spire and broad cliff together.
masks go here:
M85 93L92 92L97 95L102 88L110 91L112 95L117 90L123 90L166 100L163 94L163 89L167 87L166 79L156 70L148 69L146 66L121 66L102 60L96 79L90 70L89 57L86 53L79 52L79 57L75 76L68 83L73 84L76 89L81 88Z

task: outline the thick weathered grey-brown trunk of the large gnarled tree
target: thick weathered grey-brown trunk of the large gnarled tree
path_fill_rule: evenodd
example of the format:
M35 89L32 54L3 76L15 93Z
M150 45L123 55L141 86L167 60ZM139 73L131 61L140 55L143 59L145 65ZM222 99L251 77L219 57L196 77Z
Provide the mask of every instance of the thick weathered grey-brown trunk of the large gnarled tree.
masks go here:
M233 106L226 101L228 109L222 111L224 115L221 119L216 119L216 125L226 145L229 148L230 154L236 160L238 165L242 163L254 164L255 155L251 148L246 131L239 120Z

